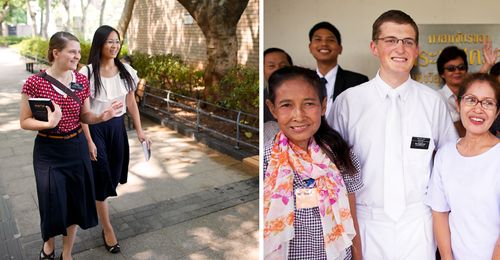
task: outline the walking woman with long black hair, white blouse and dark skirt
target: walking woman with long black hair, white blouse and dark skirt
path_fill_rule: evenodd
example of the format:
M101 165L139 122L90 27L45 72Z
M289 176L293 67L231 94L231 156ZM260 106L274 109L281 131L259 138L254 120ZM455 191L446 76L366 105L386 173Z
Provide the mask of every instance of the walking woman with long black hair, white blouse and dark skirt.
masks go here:
M83 125L94 170L96 207L102 225L102 239L106 250L113 254L120 252L120 245L111 226L106 199L117 196L118 183L127 182L129 144L123 121L126 108L132 117L139 141L146 142L148 147L151 145L142 131L135 101L134 92L139 81L137 71L120 61L120 49L118 31L107 25L99 27L92 39L88 65L80 70L90 81L92 111L99 112L115 100L126 104L121 113L106 122Z

